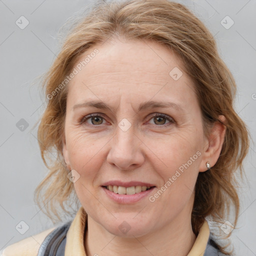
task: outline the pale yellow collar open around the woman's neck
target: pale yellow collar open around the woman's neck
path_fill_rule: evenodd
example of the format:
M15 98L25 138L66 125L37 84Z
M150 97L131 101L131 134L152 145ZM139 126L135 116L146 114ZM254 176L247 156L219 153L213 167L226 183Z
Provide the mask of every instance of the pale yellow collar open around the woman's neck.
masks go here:
M87 213L81 206L67 231L64 256L86 256L83 244L85 228L87 228ZM208 238L209 226L207 221L204 220L204 223L201 226L195 242L187 256L202 256L206 249Z

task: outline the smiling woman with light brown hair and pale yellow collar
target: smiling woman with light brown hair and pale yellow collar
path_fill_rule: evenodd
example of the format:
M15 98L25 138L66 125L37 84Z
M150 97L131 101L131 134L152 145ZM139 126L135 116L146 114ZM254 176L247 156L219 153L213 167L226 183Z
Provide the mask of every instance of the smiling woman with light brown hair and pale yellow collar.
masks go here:
M233 173L242 169L248 133L233 109L233 76L185 6L95 4L44 84L38 140L49 173L36 200L59 220L57 205L68 212L72 192L81 206L72 221L33 236L35 245L26 238L8 246L4 256L233 255L205 218L220 231L235 227Z

